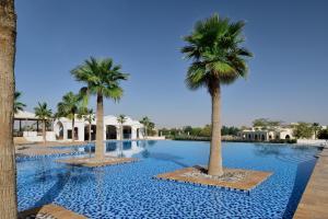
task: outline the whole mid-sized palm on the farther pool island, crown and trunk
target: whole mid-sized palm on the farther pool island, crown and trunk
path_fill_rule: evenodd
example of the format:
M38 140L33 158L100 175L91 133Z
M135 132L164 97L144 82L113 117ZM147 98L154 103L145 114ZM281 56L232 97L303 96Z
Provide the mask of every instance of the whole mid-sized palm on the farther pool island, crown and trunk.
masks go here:
M104 159L104 97L115 102L119 101L124 92L119 82L128 79L128 74L122 73L120 69L121 67L114 65L110 58L95 59L91 57L71 71L78 81L86 84L81 89L82 93L97 96L96 159Z

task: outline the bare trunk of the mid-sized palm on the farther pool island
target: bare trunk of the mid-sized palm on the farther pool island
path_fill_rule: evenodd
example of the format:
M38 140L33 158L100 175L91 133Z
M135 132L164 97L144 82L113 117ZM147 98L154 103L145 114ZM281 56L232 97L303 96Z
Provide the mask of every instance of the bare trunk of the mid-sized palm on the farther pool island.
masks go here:
M103 95L97 94L97 112L96 112L96 145L95 158L104 159L104 103Z

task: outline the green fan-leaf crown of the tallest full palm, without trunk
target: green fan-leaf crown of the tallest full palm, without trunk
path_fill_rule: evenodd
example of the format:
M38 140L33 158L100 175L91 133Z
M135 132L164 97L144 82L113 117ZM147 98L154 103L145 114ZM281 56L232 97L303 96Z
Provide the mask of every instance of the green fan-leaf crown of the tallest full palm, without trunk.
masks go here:
M186 77L189 89L206 87L211 92L213 85L229 84L246 77L245 58L253 55L241 47L244 26L243 21L232 23L218 14L196 23L192 33L184 37L188 45L181 48L186 58L192 60Z

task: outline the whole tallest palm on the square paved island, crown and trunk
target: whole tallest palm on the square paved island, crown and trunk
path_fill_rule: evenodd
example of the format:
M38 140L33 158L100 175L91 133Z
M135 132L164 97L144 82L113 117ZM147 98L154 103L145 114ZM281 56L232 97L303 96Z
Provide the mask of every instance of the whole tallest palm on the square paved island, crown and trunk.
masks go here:
M221 85L246 77L246 58L251 53L241 47L245 23L212 15L196 23L192 33L184 37L187 43L181 53L192 64L188 68L186 84L190 90L207 88L212 99L212 132L209 158L210 175L222 175L221 153Z

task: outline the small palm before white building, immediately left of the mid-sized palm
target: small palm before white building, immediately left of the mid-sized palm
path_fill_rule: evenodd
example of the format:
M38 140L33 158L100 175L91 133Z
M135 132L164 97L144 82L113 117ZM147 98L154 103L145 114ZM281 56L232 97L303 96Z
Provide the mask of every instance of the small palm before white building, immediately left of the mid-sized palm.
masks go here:
M61 102L57 105L59 115L72 120L72 141L75 140L75 115L81 104L81 96L73 92L68 92L62 96Z

